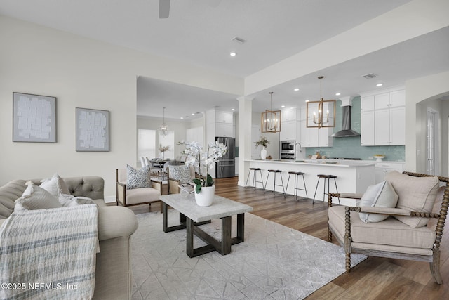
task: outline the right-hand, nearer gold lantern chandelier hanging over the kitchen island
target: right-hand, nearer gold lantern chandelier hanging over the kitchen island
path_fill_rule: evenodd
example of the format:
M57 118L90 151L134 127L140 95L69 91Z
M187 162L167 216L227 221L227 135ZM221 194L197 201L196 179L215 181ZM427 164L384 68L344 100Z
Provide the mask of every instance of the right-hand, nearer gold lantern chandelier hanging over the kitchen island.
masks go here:
M320 79L320 100L307 102L307 128L335 127L335 100L323 100L321 96L321 80ZM313 112L311 115L310 112ZM326 111L326 113L325 113ZM326 117L325 117L326 115Z

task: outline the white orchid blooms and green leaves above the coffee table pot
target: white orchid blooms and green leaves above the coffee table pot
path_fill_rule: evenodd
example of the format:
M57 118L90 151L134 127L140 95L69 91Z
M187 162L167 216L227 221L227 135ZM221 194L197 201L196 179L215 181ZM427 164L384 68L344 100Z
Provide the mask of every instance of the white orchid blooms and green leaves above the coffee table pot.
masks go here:
M209 143L207 151L203 151L197 142L180 141L178 145L185 145L185 150L182 151L182 154L187 155L185 163L193 165L198 170L199 178L194 179L196 193L201 192L202 186L212 186L214 182L209 174L209 169L226 154L227 147L217 141ZM206 178L201 177L201 174L205 173Z

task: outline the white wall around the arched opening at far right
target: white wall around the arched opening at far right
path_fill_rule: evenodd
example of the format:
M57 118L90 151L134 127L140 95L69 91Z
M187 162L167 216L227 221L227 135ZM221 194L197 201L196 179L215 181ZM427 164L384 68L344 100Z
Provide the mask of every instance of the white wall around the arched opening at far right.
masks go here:
M423 130L422 124L425 124L426 121L423 119L420 109L417 109L417 104L445 95L449 95L449 72L406 81L406 164L404 167L406 171L417 171L418 173L426 171L425 164L422 163L426 157L426 131ZM447 115L441 117L447 117ZM442 135L447 136L447 130L447 126L441 126ZM441 156L447 157L448 152L441 153ZM443 176L447 176L447 174Z

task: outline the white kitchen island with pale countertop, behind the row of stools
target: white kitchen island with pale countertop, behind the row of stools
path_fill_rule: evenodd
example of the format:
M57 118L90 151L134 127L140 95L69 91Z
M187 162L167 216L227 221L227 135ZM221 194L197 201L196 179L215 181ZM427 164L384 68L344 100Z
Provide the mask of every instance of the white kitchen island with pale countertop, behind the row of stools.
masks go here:
M332 174L337 176L337 188L340 193L364 193L366 188L374 185L374 162L358 162L351 160L332 160L332 159L304 159L300 161L282 160L282 159L248 159L249 167L261 168L264 183L267 180L269 169L279 169L282 171L284 187L287 185L289 171L304 172L304 179L306 181L307 195L309 199L314 197L316 182L318 181L318 174ZM246 175L248 176L248 175ZM250 184L253 174L248 181ZM279 175L278 175L279 176ZM279 178L279 177L278 177ZM246 178L245 178L246 181ZM327 181L327 180L326 180ZM276 185L280 184L280 180L276 179ZM288 183L287 194L293 195L293 188L295 185L294 176L290 177ZM302 178L299 181L299 187L302 188ZM262 186L260 183L258 188ZM273 190L273 174L270 174L269 181L266 185L267 190ZM327 190L327 188L326 188ZM276 186L276 192L282 192L282 187ZM335 193L335 184L333 179L330 180L330 193ZM267 196L270 194L267 194ZM271 194L272 195L272 194ZM298 195L305 197L304 191L298 190ZM327 195L326 195L327 198ZM323 201L323 179L321 179L319 188L316 192L315 200ZM355 205L355 200L340 199L344 205ZM327 202L327 199L324 199ZM337 199L333 202L338 203ZM316 203L316 202L315 202Z

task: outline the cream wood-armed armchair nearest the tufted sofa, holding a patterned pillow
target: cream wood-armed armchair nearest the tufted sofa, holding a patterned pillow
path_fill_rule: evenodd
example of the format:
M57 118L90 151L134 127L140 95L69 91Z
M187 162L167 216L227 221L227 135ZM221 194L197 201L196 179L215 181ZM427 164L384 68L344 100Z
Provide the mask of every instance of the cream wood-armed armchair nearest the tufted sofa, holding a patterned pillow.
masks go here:
M140 204L151 205L152 202L161 202L159 200L161 193L162 182L151 180L149 166L140 170L135 170L130 166L127 169L116 169L117 204L123 207Z

